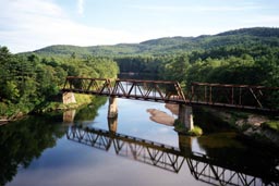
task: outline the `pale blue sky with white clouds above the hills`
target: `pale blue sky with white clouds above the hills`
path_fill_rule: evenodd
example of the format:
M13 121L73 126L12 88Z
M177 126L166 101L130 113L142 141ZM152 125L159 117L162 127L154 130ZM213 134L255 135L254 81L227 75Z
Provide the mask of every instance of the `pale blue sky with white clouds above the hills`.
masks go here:
M0 46L135 44L279 27L278 0L0 0Z

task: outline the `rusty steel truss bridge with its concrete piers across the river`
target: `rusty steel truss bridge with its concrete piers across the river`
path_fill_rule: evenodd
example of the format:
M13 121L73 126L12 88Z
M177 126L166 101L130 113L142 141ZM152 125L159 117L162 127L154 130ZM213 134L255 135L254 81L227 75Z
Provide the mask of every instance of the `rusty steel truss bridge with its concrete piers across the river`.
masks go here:
M279 87L192 83L183 91L178 82L110 79L68 76L63 103L75 102L74 94L109 97L108 117L118 114L117 98L179 104L179 120L193 128L192 106L279 113Z

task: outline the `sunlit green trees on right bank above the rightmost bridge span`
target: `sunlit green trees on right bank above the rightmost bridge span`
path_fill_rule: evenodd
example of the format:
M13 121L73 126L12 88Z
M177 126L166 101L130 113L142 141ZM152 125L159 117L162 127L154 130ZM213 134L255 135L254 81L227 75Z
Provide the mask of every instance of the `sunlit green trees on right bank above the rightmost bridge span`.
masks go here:
M254 46L238 54L235 50L241 49L222 47L190 53L183 60L180 58L166 63L165 74L169 78L168 74L184 70L184 73L178 73L180 77L177 79L185 84L208 82L279 86L279 48Z

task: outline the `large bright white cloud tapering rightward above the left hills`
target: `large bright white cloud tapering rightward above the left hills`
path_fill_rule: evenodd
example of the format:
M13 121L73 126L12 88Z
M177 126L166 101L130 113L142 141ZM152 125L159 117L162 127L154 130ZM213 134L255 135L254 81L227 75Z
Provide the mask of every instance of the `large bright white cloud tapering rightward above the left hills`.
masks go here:
M73 22L50 0L2 1L0 45L7 46L12 52L31 51L57 44L93 46L135 40L123 30Z

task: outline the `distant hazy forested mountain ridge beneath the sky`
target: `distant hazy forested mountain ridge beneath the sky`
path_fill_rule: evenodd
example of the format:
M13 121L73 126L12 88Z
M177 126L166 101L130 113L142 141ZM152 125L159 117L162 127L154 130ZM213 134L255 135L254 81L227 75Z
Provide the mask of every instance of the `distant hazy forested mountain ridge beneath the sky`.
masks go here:
M70 45L49 46L34 53L39 55L78 57L99 55L140 55L140 54L171 54L208 50L218 47L250 47L254 44L279 47L279 28L253 27L229 30L217 35L202 35L198 37L163 37L146 40L140 44L118 44L111 46L78 47Z

